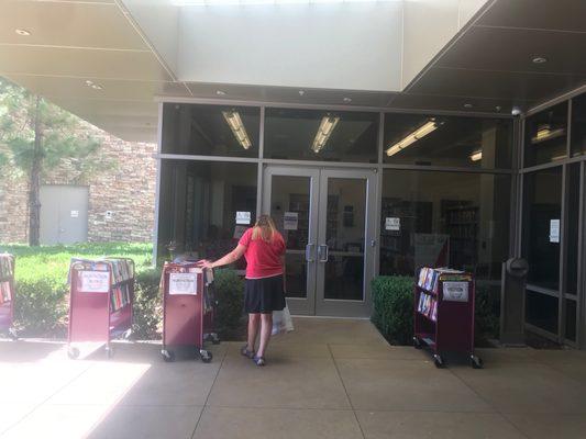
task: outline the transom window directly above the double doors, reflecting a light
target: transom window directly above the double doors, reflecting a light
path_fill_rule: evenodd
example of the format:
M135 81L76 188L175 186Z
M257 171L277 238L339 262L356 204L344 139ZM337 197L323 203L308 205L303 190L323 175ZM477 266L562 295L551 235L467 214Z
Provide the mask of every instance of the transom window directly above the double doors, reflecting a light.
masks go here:
M266 109L264 157L377 162L378 113Z

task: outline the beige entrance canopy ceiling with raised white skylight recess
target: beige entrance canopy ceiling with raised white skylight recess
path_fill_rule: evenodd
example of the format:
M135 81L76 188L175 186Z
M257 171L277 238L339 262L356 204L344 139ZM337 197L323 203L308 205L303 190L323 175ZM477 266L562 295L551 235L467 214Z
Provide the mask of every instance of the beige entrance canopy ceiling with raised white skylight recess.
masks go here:
M129 140L157 98L507 113L581 87L581 0L7 0L0 75Z

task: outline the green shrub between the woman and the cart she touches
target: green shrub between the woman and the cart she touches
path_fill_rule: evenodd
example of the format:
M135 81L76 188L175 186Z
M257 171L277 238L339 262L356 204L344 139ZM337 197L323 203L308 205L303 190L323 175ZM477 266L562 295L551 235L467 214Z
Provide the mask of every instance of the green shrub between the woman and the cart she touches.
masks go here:
M214 293L218 301L215 329L222 340L242 338L244 280L231 269L215 270Z

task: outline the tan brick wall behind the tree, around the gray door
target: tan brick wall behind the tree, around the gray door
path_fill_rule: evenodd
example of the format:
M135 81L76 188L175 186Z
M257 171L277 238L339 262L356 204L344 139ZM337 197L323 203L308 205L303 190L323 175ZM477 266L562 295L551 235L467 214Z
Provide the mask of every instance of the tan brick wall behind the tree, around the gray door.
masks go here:
M89 241L150 241L154 227L156 153L155 144L130 143L87 125L101 143L99 162L106 170L80 177L64 162L47 175L43 184L89 187ZM13 171L0 179L0 243L26 243L27 183ZM107 212L111 213L107 217Z

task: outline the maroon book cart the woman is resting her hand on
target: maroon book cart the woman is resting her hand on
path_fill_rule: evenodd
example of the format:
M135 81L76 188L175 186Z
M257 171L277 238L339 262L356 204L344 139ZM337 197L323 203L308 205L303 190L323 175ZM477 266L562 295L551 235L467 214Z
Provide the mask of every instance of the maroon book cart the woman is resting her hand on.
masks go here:
M174 361L173 349L195 349L196 356L208 363L212 353L203 342L220 339L213 328L213 271L203 270L196 262L170 263L163 268L163 348L165 361Z

